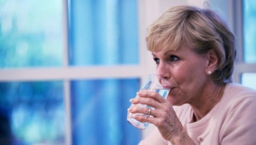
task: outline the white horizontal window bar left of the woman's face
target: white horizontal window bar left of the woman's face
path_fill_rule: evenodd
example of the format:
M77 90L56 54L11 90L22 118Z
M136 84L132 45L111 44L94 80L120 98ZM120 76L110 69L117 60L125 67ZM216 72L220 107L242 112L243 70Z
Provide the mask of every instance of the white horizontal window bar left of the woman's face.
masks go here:
M69 66L0 69L0 81L131 78L144 74L140 65Z

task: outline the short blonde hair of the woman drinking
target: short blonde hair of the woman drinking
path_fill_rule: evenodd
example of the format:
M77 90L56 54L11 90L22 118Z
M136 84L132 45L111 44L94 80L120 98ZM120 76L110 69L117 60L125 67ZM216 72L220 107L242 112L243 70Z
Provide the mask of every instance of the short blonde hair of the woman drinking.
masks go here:
M219 60L211 78L218 84L232 81L235 36L213 10L189 5L169 8L148 27L146 40L150 51L176 50L183 44L197 54L214 49Z

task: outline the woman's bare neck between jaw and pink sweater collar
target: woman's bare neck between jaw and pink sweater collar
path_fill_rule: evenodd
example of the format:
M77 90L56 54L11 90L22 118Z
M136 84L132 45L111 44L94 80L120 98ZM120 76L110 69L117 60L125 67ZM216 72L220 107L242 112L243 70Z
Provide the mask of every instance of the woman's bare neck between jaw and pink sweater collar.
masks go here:
M197 98L195 103L191 103L193 109L193 122L203 118L221 99L225 84L217 85L213 84L202 97ZM213 88L213 89L212 89Z

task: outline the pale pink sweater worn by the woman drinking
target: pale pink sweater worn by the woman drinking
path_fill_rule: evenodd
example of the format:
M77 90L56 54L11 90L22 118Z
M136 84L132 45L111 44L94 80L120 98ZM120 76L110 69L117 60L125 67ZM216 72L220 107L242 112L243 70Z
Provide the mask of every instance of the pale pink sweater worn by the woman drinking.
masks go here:
M182 125L196 144L256 144L256 90L228 83L221 100L197 122L189 104L174 106ZM156 128L140 145L167 145Z

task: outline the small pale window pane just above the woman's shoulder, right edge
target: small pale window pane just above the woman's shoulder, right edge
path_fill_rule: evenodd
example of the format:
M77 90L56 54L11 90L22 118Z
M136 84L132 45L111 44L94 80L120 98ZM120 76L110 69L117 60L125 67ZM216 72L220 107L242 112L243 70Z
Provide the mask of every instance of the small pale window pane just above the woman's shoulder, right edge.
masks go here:
M256 89L256 73L243 73L242 74L242 84L251 88Z

